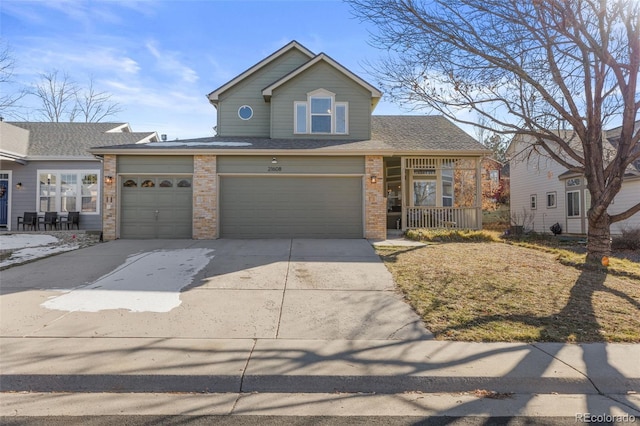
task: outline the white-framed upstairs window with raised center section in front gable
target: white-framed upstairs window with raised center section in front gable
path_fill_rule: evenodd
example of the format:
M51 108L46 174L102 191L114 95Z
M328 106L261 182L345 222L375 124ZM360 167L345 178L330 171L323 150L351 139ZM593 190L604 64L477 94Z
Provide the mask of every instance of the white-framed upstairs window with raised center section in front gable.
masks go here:
M306 101L294 102L294 133L349 133L349 104L335 99L335 93L318 89L307 93Z

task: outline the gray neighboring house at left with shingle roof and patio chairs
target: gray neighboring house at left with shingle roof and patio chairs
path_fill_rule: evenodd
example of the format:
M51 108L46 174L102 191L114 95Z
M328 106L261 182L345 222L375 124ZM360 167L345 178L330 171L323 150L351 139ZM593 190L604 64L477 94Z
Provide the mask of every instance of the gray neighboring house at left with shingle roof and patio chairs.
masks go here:
M155 132L126 123L0 122L0 227L24 212L80 212L80 227L102 229L102 164L89 148L146 143Z

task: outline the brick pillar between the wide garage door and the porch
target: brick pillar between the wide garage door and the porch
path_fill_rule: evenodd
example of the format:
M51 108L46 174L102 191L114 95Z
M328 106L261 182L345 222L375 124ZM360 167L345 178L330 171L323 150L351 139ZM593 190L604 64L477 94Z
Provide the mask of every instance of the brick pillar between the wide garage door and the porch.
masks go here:
M377 177L371 183L371 176ZM382 156L365 157L365 233L374 240L387 238L387 203L384 197L384 166Z

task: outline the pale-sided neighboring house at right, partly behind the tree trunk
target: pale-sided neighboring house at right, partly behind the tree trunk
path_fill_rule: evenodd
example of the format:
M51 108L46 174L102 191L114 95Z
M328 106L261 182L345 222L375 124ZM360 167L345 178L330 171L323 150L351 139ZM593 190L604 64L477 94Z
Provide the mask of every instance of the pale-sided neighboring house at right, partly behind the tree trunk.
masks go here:
M615 152L620 129L604 132L605 157ZM560 134L580 151L577 137L568 131ZM549 156L532 149L531 139L516 136L507 150L511 175L511 217L524 230L550 232L559 223L562 232L587 234L587 211L591 195L584 175L568 171ZM566 154L558 149L566 158ZM606 161L606 158L605 158ZM621 213L640 200L640 162L627 168L620 192L609 206L609 214ZM612 234L626 228L640 228L640 214L611 225Z

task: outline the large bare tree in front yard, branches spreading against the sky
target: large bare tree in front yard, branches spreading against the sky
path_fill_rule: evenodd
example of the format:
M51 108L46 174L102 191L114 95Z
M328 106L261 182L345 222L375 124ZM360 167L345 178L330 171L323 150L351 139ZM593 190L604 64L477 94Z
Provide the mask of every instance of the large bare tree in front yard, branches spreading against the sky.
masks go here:
M640 212L607 209L640 159L640 2L636 0L346 0L377 26L372 45L392 99L474 125L522 134L587 180L587 260L611 250L610 225ZM603 130L621 123L605 161ZM563 137L570 130L578 146ZM559 148L559 149L558 149Z

